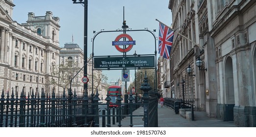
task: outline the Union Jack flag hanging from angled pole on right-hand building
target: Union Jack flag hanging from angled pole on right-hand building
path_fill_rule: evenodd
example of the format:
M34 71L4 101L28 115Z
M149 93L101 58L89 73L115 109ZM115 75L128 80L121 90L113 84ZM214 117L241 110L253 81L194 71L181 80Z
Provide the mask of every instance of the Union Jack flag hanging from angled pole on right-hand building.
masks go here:
M173 45L174 31L166 25L159 23L158 53L169 59Z

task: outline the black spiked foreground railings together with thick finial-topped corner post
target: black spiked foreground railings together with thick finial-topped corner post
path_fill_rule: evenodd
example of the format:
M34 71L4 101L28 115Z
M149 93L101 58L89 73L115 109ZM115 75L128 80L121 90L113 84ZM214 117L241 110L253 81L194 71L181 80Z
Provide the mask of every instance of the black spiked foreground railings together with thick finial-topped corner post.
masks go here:
M121 95L118 95L117 103L119 107L110 108L110 97L105 98L106 103L99 104L99 93L92 93L90 97L87 94L77 95L69 91L62 94L45 94L44 91L31 95L22 91L21 95L14 95L14 91L4 95L2 90L0 96L0 127L111 127L118 123L121 127L121 120L124 117L130 117L129 126L132 127L132 117L144 116L145 127L157 127L157 100L159 94L150 91L147 76L145 74L143 90L143 102L134 103L132 94L129 94L128 103L122 103ZM17 93L17 92L16 92ZM113 104L113 105L115 105ZM124 107L124 106L127 107ZM100 106L105 106L101 107ZM132 112L143 106L143 115L133 115ZM124 113L124 108L128 108L128 114ZM100 113L101 111L101 113ZM112 113L111 113L112 112ZM101 117L101 118L100 118ZM111 119L112 117L112 119ZM101 121L100 121L101 119ZM106 122L107 121L107 122ZM100 123L102 122L102 123Z

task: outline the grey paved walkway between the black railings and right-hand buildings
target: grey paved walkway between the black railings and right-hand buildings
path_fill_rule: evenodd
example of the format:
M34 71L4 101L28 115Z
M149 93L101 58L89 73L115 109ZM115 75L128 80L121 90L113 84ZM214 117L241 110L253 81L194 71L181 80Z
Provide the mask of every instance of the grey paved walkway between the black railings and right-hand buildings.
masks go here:
M206 112L194 111L194 120L188 120L180 114L175 114L174 110L164 106L161 108L158 104L158 127L237 127L234 121L222 121L217 118L210 118ZM132 119L133 127L144 127L142 120L143 107L138 108L133 112ZM121 121L122 127L130 127L130 118L125 117ZM118 127L118 123L111 125L111 127Z

